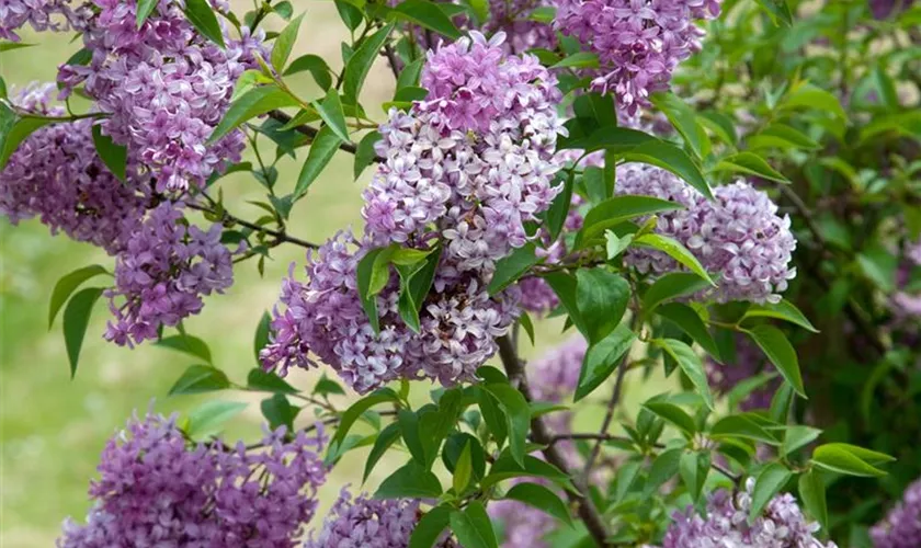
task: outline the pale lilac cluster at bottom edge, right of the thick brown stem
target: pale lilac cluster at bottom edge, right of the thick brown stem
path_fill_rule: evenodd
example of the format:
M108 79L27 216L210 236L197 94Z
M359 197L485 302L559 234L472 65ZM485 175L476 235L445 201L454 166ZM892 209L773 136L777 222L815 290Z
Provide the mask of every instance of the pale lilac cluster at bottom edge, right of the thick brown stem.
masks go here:
M834 543L815 537L819 525L806 521L789 493L771 499L749 525L753 490L754 479L749 478L744 491L734 494L719 490L712 494L703 517L693 506L676 512L662 548L837 548Z

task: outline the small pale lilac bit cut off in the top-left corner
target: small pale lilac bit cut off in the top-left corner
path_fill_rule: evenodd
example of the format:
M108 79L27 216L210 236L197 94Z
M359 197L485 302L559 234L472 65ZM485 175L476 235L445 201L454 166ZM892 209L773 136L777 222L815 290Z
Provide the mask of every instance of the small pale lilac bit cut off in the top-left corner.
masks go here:
M86 4L71 4L71 0L2 0L0 39L19 42L16 31L26 24L39 32L80 31L92 12Z

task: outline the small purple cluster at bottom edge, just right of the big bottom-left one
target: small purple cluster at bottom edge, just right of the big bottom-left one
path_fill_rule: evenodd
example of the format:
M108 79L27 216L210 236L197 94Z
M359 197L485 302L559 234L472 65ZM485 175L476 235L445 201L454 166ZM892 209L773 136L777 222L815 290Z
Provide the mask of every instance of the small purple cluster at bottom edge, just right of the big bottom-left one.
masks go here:
M304 548L406 548L421 517L418 500L352 499L343 489L319 535L311 534ZM436 548L456 546L451 538L435 544Z

